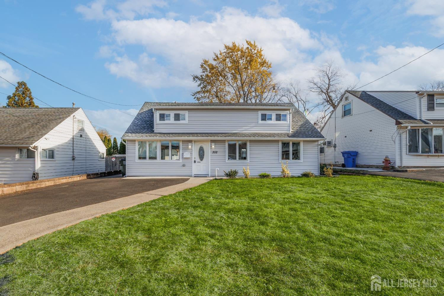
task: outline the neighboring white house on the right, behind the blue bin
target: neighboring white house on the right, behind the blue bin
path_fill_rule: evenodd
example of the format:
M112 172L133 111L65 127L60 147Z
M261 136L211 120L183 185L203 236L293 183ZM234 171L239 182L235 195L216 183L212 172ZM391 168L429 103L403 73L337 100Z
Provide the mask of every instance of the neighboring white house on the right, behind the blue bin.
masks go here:
M324 127L321 163L342 164L341 151L358 151L357 164L444 166L444 92L346 91Z

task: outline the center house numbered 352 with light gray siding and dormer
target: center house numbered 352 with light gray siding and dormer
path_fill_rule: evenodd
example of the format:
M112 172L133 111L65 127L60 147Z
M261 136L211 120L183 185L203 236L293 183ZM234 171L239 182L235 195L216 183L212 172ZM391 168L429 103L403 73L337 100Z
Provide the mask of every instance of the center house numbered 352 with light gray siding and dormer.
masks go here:
M123 135L127 176L319 174L321 133L293 104L146 102Z

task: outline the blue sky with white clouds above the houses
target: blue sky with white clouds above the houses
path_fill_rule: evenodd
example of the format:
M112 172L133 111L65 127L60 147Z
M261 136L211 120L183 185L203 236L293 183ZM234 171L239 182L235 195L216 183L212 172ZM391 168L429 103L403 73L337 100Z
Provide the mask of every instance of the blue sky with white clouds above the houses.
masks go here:
M231 41L256 40L276 79L301 88L325 60L344 69L346 83L361 85L444 42L444 1L0 1L1 52L89 96L127 105L193 101L191 75ZM443 61L444 46L366 89L444 80ZM52 106L75 102L117 137L132 117L109 106L139 109L99 104L5 58L0 76L25 80ZM0 81L0 92L13 90Z

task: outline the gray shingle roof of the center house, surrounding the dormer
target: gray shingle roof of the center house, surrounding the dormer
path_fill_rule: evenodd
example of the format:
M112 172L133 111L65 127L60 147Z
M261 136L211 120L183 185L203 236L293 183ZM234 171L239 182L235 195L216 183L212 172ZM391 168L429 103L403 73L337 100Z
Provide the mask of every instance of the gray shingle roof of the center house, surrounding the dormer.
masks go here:
M269 106L293 107L292 132L252 132L252 133L159 133L154 132L153 108L159 106ZM324 138L313 124L293 104L257 103L156 103L145 102L123 137L162 138L162 137L243 137L243 138Z

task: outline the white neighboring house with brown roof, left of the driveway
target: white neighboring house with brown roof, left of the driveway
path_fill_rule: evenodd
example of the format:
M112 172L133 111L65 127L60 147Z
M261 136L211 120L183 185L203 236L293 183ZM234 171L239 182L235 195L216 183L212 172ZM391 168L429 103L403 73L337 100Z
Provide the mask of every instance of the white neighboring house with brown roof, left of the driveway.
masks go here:
M105 171L105 145L82 108L0 111L0 184Z

